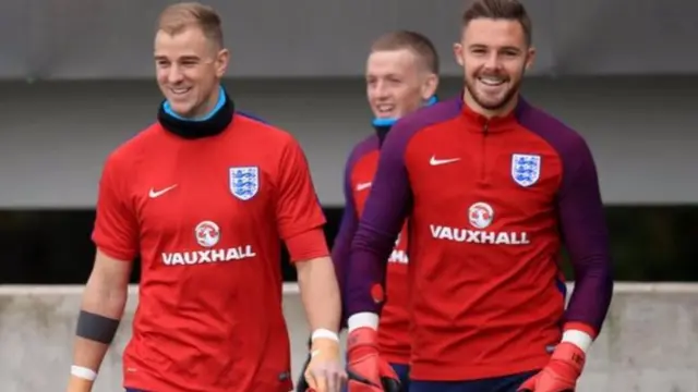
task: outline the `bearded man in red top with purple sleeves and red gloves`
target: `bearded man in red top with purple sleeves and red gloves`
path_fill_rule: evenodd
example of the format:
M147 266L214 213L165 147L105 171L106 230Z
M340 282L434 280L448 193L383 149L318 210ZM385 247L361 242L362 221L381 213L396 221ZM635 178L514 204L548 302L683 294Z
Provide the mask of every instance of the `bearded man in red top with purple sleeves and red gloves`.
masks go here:
M587 144L519 97L530 32L519 2L474 2L462 97L405 117L381 149L347 281L348 371L373 384L351 392L381 390L376 286L406 218L410 391L562 392L581 375L612 296L609 235Z

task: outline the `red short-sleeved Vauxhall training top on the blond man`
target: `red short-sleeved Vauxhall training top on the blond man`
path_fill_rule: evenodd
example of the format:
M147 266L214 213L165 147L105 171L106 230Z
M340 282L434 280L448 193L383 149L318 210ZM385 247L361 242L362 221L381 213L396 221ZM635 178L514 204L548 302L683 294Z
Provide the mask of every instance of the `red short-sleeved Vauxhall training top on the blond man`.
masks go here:
M279 237L293 261L327 256L324 223L300 146L262 122L234 114L196 139L157 123L120 146L93 238L110 257L142 259L124 385L288 392Z

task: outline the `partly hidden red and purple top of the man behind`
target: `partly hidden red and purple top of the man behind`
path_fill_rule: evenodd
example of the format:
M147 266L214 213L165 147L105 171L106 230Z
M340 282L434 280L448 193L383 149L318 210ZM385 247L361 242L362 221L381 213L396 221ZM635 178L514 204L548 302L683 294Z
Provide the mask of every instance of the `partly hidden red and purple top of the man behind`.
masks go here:
M349 269L351 241L371 192L373 177L378 166L383 136L378 132L366 137L354 146L347 160L344 179L346 207L332 252L342 293L345 293L344 287ZM407 308L408 261L406 233L400 233L397 241L394 241L394 248L387 258L386 299L378 328L381 354L386 360L397 364L407 364L410 355L409 311Z

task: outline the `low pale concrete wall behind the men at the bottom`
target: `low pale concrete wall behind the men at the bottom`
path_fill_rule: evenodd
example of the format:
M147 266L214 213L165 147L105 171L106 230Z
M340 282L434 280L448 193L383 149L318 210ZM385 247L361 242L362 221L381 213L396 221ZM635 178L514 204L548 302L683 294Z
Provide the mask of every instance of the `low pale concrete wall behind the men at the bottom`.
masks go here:
M82 287L0 286L0 385L3 392L62 390ZM308 329L298 289L285 287L293 375ZM96 392L120 392L122 352L136 304L109 351ZM617 284L604 331L579 392L698 392L698 284Z

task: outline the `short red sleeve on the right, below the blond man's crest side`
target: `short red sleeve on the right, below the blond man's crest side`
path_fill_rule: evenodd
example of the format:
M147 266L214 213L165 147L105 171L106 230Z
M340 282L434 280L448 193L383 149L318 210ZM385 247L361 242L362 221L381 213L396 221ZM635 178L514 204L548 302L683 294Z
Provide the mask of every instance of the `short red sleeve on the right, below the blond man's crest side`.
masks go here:
M325 216L317 200L308 159L294 139L286 145L277 179L276 221L281 240L321 228Z

